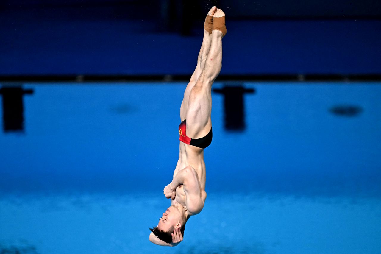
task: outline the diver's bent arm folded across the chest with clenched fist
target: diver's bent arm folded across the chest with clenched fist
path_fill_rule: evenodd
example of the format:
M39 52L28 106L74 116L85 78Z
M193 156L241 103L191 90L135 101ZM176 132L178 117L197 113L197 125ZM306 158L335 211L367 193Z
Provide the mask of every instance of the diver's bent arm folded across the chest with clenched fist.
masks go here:
M201 185L196 170L187 166L176 174L169 189L175 191L179 185L183 185L186 195L186 207L191 214L198 214L204 207L201 199Z

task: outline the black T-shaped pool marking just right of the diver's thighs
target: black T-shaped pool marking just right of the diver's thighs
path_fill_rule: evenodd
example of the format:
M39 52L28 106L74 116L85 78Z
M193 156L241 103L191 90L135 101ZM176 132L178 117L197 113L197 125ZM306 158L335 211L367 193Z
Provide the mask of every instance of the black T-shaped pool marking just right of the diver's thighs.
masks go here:
M213 89L213 92L224 95L225 129L239 132L245 130L243 95L245 93L254 93L255 90L253 88L245 88L239 84L234 86L225 85L222 89Z

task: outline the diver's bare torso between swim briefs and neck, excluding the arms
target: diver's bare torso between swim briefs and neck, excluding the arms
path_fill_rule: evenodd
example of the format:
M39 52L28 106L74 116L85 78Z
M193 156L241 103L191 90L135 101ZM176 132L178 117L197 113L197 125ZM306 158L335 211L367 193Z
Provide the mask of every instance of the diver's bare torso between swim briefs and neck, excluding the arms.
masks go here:
M187 145L183 142L180 142L180 153L179 160L176 165L176 169L173 172L173 177L176 176L177 172L181 169L184 169L187 166L192 166L197 172L200 186L201 186L201 198L202 201L205 201L206 192L205 192L205 162L204 162L204 151L202 148L196 146ZM186 207L186 196L184 188L182 185L179 185L176 188L176 197L172 201L173 205L179 203L181 206Z

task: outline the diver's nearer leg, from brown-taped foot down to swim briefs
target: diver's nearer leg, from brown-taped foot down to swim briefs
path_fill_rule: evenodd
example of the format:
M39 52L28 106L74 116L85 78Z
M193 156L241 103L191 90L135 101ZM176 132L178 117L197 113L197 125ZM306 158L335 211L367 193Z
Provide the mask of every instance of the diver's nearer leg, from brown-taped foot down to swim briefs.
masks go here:
M222 10L215 11L215 18L224 16L225 13ZM222 20L219 21L219 25L221 25ZM213 23L213 28L214 26ZM224 33L213 29L211 46L204 68L189 95L186 119L187 136L191 138L204 137L211 128L211 86L222 67L222 38L226 34L225 22L223 22L223 27Z

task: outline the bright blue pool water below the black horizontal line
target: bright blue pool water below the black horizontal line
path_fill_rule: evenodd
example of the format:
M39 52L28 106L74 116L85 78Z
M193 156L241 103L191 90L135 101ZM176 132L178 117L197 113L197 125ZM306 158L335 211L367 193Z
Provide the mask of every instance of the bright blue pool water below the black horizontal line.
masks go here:
M246 129L224 129L213 93L205 208L165 248L148 227L169 204L186 83L24 84L24 132L0 132L0 250L377 253L380 83L241 85Z

